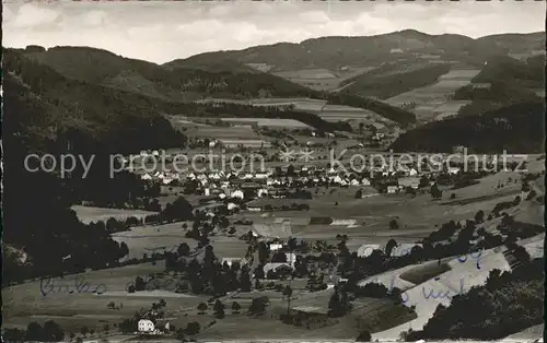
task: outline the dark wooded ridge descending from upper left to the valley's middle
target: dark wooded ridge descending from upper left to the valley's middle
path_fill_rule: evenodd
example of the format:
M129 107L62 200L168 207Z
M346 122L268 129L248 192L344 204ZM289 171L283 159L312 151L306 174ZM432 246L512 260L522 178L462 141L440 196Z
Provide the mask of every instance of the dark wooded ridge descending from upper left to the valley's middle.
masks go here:
M21 56L74 80L119 90L168 103L190 103L203 98L252 99L306 97L334 102L328 93L314 91L270 73L259 72L237 61L176 60L164 66L128 59L109 51L88 47L32 46L18 50ZM335 97L338 98L338 97ZM338 98L334 105L350 105ZM411 113L366 99L356 107L370 109L400 125L414 122ZM364 106L364 107L363 107ZM291 118L296 119L299 118Z

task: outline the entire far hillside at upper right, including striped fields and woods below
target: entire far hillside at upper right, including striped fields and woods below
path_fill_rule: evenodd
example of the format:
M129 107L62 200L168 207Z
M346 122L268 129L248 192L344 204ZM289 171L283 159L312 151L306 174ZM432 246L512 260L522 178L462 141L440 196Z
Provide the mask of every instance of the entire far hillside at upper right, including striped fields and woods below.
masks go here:
M243 50L206 52L168 62L164 67L194 66L207 70L219 66L237 66L238 69L247 66L315 91L376 99L405 95L403 105L387 103L407 111L414 111L410 107L415 106L418 121L426 122L538 100L538 94L544 88L544 50L543 32L474 39L463 35L428 35L405 29L376 36L321 37L299 44L279 43ZM446 82L431 86L447 73L469 70L480 71L470 85L467 85L469 82L457 85L454 81L454 86L447 88ZM487 94L486 84L491 84ZM423 94L418 92L421 88ZM410 93L412 91L419 94ZM433 94L439 92L445 94ZM415 100L414 95L420 98ZM449 106L450 110L435 109L450 100L454 102L453 106Z

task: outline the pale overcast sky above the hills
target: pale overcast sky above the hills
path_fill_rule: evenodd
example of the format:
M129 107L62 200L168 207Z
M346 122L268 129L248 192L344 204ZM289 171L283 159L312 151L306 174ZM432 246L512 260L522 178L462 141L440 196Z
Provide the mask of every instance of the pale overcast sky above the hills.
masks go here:
M415 28L480 37L545 31L545 1L4 3L3 46L90 46L164 63L191 55L321 36Z

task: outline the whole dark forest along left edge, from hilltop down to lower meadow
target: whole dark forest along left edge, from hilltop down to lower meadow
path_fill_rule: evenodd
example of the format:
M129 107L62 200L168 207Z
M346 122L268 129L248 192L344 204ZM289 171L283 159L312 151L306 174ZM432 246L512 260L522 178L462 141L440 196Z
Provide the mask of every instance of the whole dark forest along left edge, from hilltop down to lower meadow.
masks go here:
M109 155L144 147L183 146L185 137L147 98L69 80L19 54L4 54L3 243L26 256L4 263L12 280L105 268L127 253L108 232L82 224L70 205L82 200L120 206L153 197L136 175L109 177ZM89 175L31 173L25 157L71 153L90 161ZM8 260L8 259L5 259ZM23 267L23 268L21 268Z

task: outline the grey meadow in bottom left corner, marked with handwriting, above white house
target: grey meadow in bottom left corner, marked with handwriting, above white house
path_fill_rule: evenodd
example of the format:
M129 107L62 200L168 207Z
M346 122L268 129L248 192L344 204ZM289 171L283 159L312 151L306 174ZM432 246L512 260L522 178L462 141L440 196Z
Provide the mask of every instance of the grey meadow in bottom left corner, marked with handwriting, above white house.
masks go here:
M165 297L167 310L181 310L181 308L195 308L206 297L181 295L178 297L166 297L154 292L138 292L128 294L127 283L135 281L136 276L147 276L164 270L163 263L153 265L142 263L116 269L91 271L79 274L91 288L103 284L106 292L101 295L91 293L58 293L42 295L39 281L33 281L21 285L2 289L3 295L3 324L9 327L26 328L28 320L45 322L54 319L67 331L79 331L82 326L102 329L108 323L112 330L114 323L119 323L131 317L140 308L149 308L153 301ZM74 284L75 275L66 275L63 280L54 279L55 284ZM73 286L72 286L73 287ZM151 294L152 293L152 296ZM174 293L173 293L174 294ZM114 301L123 304L119 309L107 309L106 305Z

